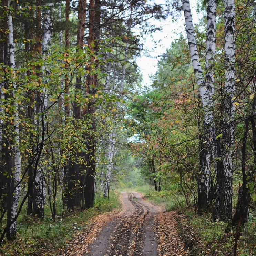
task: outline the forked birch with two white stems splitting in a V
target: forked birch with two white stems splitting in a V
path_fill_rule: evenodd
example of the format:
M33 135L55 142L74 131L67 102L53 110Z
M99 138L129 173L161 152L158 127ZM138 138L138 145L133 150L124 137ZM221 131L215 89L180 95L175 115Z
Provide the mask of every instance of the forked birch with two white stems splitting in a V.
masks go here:
M212 63L215 51L215 15L216 2L210 1L207 9L207 57L206 68L208 70L207 79L203 77L203 71L199 62L199 54L196 45L195 31L193 26L190 3L188 0L183 0L183 11L186 22L186 33L190 55L192 58L192 65L196 78L196 83L199 90L199 95L202 103L204 118L203 118L203 132L204 142L201 149L201 163L200 163L200 181L198 184L198 204L199 212L209 211L211 208L211 184L210 184L210 166L211 159L217 157L217 143L215 140L215 126L213 123L214 117L212 112L212 96L214 94L214 77L212 71ZM215 165L216 168L216 165Z

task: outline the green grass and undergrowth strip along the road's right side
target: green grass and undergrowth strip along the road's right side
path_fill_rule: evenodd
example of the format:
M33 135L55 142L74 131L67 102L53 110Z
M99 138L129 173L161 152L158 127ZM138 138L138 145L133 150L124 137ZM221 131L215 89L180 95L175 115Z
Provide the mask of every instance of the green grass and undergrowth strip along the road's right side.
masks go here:
M178 191L154 191L138 188L145 198L152 203L164 205L166 211L177 211L178 232L191 255L233 255L236 229L226 232L227 222L213 222L211 214L199 216L193 205L187 206L184 196ZM172 219L170 219L172 221ZM249 219L239 231L237 255L256 255L256 216L249 214Z

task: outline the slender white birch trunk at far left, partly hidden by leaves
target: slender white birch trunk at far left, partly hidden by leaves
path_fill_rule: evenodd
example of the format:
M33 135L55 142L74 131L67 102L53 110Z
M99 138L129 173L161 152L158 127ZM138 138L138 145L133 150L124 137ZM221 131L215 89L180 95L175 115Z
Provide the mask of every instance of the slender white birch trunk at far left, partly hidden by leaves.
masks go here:
M10 6L11 0L8 0L8 7ZM15 68L15 51L14 51L14 40L13 40L13 23L12 23L12 16L8 15L8 28L9 28L9 54L10 54L10 67ZM20 198L20 167L21 167L21 157L20 157L20 150L19 150L19 144L20 144L20 134L19 134L19 112L18 112L18 102L17 102L17 96L16 96L16 84L13 83L13 90L12 90L12 97L14 100L14 110L13 110L13 125L14 125L14 145L13 145L13 151L14 151L14 193L13 193L13 204L11 206L11 220L14 219L14 217L17 214L17 207L18 202ZM11 224L9 228L9 233L11 237L16 236L16 221Z

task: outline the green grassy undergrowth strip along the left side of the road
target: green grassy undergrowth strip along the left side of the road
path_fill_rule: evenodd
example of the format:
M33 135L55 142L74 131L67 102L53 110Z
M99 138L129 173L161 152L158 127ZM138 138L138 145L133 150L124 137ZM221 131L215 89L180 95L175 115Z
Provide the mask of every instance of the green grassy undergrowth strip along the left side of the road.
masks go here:
M96 195L93 208L82 212L79 209L64 211L62 216L56 217L55 222L49 212L45 212L44 219L21 215L17 220L17 239L4 241L0 255L53 255L75 234L86 230L93 217L120 207L119 195L111 191L109 199Z

